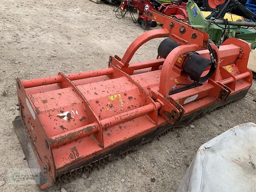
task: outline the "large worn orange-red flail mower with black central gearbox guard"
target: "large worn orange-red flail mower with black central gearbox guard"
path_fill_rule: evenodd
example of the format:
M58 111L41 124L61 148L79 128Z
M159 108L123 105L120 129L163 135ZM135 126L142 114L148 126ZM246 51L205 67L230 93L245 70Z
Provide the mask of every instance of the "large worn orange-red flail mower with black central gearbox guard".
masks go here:
M247 42L229 38L217 47L199 29L154 11L147 16L163 28L139 36L123 58L110 56L106 69L17 78L20 116L13 124L31 170L40 169L41 189L248 92ZM130 63L158 37L168 38L157 59Z

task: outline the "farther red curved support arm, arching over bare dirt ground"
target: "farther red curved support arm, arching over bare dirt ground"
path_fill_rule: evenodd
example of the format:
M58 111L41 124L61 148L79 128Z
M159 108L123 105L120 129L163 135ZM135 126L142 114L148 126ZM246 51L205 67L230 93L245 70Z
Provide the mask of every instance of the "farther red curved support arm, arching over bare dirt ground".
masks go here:
M138 36L132 44L128 47L126 52L124 53L122 62L124 63L124 68L127 68L129 66L129 62L131 61L134 53L140 48L141 45L148 42L151 39L154 38L160 38L160 37L168 37L170 31L168 31L166 28L164 29L154 29L150 30L146 33L143 33L142 35Z

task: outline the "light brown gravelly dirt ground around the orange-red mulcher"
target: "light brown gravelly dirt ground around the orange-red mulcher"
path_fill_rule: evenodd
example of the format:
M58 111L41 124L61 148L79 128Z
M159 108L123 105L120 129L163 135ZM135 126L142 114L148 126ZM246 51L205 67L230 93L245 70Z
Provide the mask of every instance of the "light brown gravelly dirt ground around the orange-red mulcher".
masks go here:
M16 77L31 79L106 68L109 55L123 56L130 43L144 33L129 17L117 19L115 9L89 0L1 1L0 191L39 191L36 185L11 185L6 178L11 168L28 168L12 126L19 115ZM132 60L156 58L161 40L142 46ZM177 128L63 188L68 192L176 191L197 148L237 124L256 122L252 101L256 81L253 83L244 99L196 120L195 128ZM152 177L155 182L151 182ZM89 188L85 185L88 180ZM56 190L53 186L45 191Z

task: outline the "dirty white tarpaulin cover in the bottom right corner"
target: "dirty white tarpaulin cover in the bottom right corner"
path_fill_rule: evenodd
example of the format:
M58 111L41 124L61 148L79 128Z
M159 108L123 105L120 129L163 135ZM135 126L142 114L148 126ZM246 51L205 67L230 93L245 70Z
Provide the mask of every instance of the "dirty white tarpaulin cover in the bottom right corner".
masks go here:
M237 125L203 144L177 192L255 192L256 124Z

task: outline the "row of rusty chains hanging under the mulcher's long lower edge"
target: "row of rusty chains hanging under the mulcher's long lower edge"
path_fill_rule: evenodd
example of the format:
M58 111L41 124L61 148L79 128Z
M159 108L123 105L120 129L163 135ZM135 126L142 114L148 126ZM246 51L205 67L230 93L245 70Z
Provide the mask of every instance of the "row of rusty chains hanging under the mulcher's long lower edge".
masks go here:
M232 103L232 102L230 102L230 103ZM230 104L230 103L227 103L227 104L225 104L225 105L223 105L223 106L217 107L217 108L213 109L212 111L218 110L218 109L223 109L225 106L227 106L227 105ZM211 114L212 111L209 111L208 113ZM192 119L191 121L189 121L186 125L191 124L191 123L193 123L195 120L200 119L200 118L202 118L202 117L204 117L204 116L205 116L205 114L198 115L198 116L196 116L194 119ZM174 129L174 128L171 127L170 129L168 129L168 130L166 130L165 132L161 133L161 134L157 137L157 139L159 140L159 138L160 138L161 136L164 136L164 135L168 134L168 132L173 132L173 129ZM151 142L151 141L149 141L149 142ZM146 143L145 143L145 144L146 144ZM129 151L127 151L127 152L125 152L125 153L119 155L118 157L124 158L124 156L126 156L126 155L128 155L128 154L130 154L130 153L133 153L134 151L137 151L137 150L129 150ZM118 157L116 157L116 159L118 159ZM109 156L107 156L107 157L105 157L105 158L103 158L103 159L100 159L100 160L98 160L98 161L95 161L95 162L92 162L92 163L90 163L90 164L88 164L88 165L85 165L84 167L81 167L81 168L79 168L79 169L76 169L76 170L73 170L73 171L70 171L70 172L67 172L67 173L63 173L63 174L61 174L61 175L59 175L59 176L57 177L57 179L56 179L56 184L58 185L58 188L60 189L62 184L65 184L65 183L69 182L72 178L74 178L74 179L76 180L76 177L79 176L79 175L81 176L82 173L85 173L86 176L88 177L92 171L94 171L95 169L100 170L100 168L103 168L103 169L104 169L104 168L105 168L105 165L107 165L107 164L108 164L109 162L111 162L111 161L112 161L112 160L109 159Z

